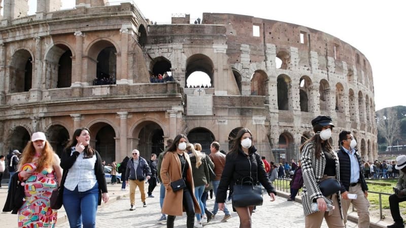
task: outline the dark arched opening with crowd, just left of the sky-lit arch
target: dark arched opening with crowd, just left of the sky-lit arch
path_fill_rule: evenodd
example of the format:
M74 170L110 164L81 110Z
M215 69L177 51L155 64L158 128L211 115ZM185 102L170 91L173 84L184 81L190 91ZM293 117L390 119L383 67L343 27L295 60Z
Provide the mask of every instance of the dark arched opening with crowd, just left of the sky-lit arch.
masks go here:
M173 82L171 67L172 64L166 58L160 56L151 62L152 75L150 75L151 83Z

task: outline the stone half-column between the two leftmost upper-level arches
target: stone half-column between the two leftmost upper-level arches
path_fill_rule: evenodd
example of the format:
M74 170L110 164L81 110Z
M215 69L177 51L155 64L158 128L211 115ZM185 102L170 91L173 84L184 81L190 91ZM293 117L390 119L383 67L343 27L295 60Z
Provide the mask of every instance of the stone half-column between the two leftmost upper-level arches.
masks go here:
M36 35L35 40L35 60L32 62L32 79L31 79L31 89L29 90L30 96L29 101L40 101L42 98L41 94L41 83L42 83L42 45L41 37Z

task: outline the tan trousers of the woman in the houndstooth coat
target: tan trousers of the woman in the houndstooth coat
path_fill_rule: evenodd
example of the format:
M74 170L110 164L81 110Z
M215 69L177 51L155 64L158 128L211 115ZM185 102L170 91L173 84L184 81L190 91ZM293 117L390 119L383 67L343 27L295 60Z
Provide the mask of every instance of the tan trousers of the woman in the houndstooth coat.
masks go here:
M306 228L320 228L323 218L327 222L329 228L342 227L344 228L344 221L341 218L339 201L337 199L337 194L332 195L332 201L334 205L334 210L326 212L315 212L304 218L304 224Z

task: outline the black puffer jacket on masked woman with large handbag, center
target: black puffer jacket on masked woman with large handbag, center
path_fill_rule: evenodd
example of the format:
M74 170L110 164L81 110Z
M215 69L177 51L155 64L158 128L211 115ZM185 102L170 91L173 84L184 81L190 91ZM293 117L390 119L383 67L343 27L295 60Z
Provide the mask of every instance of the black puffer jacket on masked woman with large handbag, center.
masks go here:
M249 150L250 155L246 155L242 150L239 150L236 155L227 154L224 170L217 189L217 203L225 202L230 183L240 184L244 177L250 176L255 184L260 182L265 187L266 192L276 195L275 188L266 176L265 167L256 151L257 149L252 146ZM244 181L247 180L249 178L244 179Z

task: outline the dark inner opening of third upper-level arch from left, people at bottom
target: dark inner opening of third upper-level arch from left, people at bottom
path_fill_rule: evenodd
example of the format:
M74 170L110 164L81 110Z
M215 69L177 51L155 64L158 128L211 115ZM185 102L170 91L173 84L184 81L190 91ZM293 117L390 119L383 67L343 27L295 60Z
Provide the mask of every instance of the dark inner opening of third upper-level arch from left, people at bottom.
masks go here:
M116 52L115 47L107 47L97 55L95 85L116 84Z

